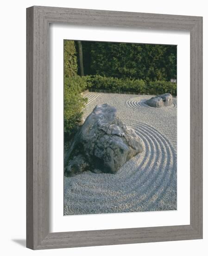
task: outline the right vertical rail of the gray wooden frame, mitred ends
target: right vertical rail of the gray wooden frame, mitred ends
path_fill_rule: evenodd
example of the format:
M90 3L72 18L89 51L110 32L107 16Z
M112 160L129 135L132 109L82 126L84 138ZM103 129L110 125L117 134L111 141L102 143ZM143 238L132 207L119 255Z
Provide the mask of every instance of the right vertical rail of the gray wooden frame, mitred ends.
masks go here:
M202 236L202 19L190 31L190 225Z

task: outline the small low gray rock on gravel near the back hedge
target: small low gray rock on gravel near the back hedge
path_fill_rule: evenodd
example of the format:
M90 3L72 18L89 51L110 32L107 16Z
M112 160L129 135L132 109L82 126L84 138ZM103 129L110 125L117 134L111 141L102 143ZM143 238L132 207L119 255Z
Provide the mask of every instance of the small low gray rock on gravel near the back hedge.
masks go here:
M161 94L145 101L145 104L154 108L167 107L173 104L173 98L171 94Z

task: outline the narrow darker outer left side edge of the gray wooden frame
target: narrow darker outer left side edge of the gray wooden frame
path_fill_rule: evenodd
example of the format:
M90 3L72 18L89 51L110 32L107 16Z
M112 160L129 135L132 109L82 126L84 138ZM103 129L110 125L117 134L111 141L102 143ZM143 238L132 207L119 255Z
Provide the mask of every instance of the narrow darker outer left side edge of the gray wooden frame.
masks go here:
M33 248L33 8L27 9L27 50L26 50L26 246Z

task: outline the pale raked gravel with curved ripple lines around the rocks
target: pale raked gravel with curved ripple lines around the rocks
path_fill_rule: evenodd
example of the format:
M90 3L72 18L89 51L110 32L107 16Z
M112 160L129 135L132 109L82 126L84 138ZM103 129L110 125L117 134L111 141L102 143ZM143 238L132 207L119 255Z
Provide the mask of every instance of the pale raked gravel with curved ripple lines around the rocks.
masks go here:
M173 105L152 108L152 95L88 93L86 118L98 104L117 108L135 129L145 150L112 174L84 172L64 177L64 215L176 209L176 98Z

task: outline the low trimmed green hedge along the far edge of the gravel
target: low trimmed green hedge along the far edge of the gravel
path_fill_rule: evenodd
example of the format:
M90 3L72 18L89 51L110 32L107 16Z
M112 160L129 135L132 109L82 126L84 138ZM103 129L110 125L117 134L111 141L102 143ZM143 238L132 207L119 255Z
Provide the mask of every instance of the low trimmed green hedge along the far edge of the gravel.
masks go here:
M92 90L110 90L111 92L132 92L138 94L163 94L176 95L176 83L167 81L147 82L139 79L116 78L101 75L86 76L87 87Z

